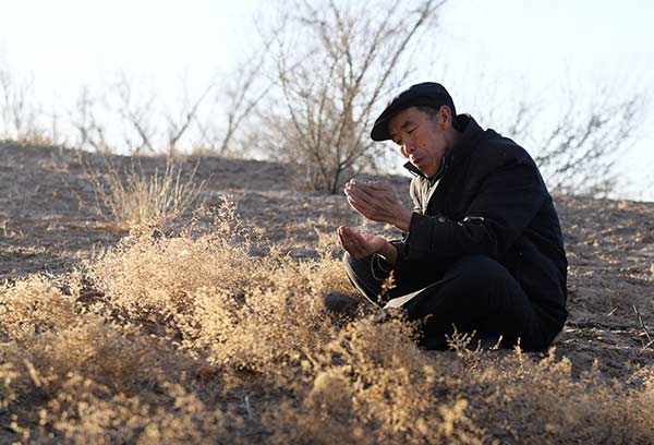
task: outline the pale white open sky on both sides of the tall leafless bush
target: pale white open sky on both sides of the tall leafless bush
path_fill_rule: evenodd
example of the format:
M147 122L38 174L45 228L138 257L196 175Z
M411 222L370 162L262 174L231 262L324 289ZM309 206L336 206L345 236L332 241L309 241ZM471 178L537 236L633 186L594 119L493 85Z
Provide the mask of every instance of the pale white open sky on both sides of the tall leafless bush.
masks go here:
M32 74L40 100L55 107L73 101L81 85L100 85L118 71L162 95L178 92L183 76L202 88L246 49L251 17L265 4L0 0L0 65ZM506 94L518 81L546 89L565 76L580 84L611 82L616 95L623 85L654 94L652 23L654 1L647 0L451 0L440 17L436 44L447 67L437 81L453 87L459 111L473 108L475 81L485 72L499 73ZM633 169L627 168L644 178L654 167L649 125L643 141Z

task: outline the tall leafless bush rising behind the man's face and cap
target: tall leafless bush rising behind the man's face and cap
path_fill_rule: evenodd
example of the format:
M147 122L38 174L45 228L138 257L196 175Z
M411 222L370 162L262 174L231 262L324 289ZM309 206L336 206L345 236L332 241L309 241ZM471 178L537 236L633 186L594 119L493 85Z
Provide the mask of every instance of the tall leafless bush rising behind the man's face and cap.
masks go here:
M347 169L375 165L374 107L411 74L414 44L443 3L286 3L268 149L303 165L310 183L330 193Z

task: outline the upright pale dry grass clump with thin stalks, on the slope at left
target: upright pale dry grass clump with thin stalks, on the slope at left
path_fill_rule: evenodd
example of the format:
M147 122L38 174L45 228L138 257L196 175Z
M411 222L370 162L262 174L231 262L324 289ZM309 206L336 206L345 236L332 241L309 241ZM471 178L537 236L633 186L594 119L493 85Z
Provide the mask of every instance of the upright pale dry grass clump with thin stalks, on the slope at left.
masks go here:
M130 169L119 170L108 160L106 171L88 165L85 170L98 211L107 209L119 228L129 229L146 222L170 221L197 204L206 185L206 181L195 181L197 166L182 176L182 166L168 157L165 170L155 169L153 175L134 164Z

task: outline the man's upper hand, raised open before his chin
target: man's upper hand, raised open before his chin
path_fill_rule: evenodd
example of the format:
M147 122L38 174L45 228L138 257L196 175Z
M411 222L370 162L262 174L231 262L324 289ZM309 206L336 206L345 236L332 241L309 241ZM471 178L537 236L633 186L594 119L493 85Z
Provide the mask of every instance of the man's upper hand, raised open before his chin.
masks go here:
M344 192L350 206L365 218L392 224L402 231L409 230L411 212L398 201L387 185L352 179L346 183Z

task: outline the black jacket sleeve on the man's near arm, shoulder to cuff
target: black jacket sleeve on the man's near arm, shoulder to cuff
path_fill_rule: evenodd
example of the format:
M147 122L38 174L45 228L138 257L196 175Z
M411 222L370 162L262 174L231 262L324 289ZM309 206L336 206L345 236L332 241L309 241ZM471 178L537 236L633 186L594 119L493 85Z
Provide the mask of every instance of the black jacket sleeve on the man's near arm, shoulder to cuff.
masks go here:
M413 213L399 261L456 260L469 254L502 255L525 230L547 193L535 164L513 158L480 182L462 220Z

